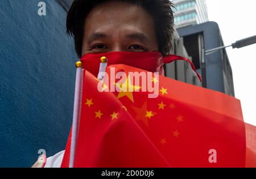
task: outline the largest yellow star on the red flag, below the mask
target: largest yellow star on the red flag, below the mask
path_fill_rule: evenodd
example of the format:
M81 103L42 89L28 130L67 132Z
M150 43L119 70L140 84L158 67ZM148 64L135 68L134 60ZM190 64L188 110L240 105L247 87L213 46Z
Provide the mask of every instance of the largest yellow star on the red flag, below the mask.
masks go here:
M119 92L117 95L118 99L120 99L123 96L127 96L131 101L133 101L133 103L133 92L141 89L141 87L139 86L133 86L132 84L130 84L130 76L126 78L125 83L116 83L115 86L117 86L121 90L121 92ZM129 91L129 89L132 90Z

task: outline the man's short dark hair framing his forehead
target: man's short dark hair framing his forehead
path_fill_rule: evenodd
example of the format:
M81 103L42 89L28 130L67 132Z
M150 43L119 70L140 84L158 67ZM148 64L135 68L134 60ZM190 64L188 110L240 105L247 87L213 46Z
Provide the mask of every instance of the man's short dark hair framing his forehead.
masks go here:
M76 53L81 58L84 22L89 12L101 3L114 0L74 0L67 16L67 33L74 37ZM118 0L115 0L118 1ZM121 0L119 0L121 1ZM172 49L174 35L173 4L170 0L122 0L144 8L154 19L159 51L166 56Z

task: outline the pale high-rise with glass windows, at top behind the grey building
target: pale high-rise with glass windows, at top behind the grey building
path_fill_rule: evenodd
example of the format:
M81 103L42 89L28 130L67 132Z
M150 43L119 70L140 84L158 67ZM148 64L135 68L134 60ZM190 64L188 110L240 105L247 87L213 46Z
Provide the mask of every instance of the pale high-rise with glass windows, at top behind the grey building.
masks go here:
M208 22L205 0L173 0L176 28Z

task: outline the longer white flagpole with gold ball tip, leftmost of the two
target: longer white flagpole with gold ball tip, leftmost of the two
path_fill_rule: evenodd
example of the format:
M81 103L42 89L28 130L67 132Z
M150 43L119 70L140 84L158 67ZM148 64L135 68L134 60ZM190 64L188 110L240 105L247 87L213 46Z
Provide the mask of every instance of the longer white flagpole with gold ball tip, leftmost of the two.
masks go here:
M73 123L71 134L71 150L69 155L69 168L74 167L77 134L79 129L81 102L82 102L82 81L84 77L84 69L82 69L82 62L76 62L76 84L75 84L75 99L73 109Z

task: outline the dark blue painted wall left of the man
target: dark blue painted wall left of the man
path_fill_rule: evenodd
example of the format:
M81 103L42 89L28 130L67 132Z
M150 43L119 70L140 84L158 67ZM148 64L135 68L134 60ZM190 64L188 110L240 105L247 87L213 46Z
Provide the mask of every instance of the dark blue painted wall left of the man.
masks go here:
M31 167L38 150L64 150L72 122L76 53L67 12L44 0L0 2L0 167Z

